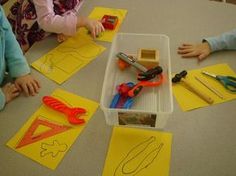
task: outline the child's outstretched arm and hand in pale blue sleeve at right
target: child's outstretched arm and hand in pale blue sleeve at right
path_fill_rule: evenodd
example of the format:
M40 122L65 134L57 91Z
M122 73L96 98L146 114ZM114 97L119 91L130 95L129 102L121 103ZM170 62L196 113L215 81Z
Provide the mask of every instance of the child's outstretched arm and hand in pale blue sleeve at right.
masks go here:
M201 61L211 53L220 50L236 50L236 29L220 36L203 39L200 44L182 44L178 48L178 54L183 58L197 57Z

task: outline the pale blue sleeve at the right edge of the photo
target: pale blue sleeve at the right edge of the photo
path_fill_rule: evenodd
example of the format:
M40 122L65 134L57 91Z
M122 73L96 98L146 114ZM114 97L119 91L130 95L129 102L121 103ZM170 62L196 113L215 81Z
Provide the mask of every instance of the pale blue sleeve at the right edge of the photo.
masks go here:
M216 37L205 38L211 47L211 51L236 50L236 29L223 33Z

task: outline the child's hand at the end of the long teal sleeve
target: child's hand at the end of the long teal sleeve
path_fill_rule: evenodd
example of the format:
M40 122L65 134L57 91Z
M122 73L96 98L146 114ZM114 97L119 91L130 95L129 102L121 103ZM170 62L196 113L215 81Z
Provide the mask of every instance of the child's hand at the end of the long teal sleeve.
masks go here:
M26 96L36 95L40 88L39 82L29 74L16 78L15 85L20 91L25 92Z

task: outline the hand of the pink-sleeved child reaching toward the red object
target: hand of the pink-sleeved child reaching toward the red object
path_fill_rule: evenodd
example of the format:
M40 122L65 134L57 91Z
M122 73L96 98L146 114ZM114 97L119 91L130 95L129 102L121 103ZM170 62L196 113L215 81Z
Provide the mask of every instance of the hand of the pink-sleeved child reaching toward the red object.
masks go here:
M89 18L85 19L85 27L91 32L93 38L96 38L101 32L105 31L100 21Z

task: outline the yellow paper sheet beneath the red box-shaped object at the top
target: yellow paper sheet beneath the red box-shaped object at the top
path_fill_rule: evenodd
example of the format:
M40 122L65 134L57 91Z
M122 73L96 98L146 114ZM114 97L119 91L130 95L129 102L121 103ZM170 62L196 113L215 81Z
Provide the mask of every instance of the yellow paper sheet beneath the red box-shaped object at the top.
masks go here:
M112 42L113 37L119 31L120 25L122 24L126 16L126 13L127 13L127 10L124 10L124 9L95 7L94 10L89 15L89 18L101 20L104 15L113 15L113 16L117 16L119 19L118 24L114 30L104 31L103 33L100 34L99 37L96 38L96 40ZM88 33L88 30L85 28L81 28L79 30L79 33L82 35L90 36L90 34Z

